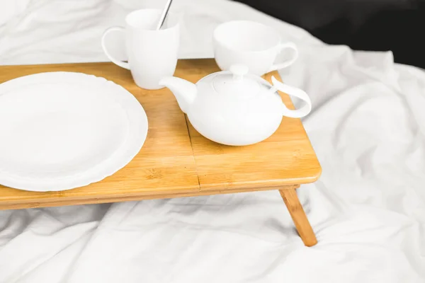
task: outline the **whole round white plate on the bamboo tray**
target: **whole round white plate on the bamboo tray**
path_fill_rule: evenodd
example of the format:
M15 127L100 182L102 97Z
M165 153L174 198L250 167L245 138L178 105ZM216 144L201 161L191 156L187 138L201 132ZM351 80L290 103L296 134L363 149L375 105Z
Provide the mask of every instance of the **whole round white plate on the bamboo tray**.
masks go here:
M112 81L51 72L0 84L0 184L69 190L123 168L147 136L147 116Z

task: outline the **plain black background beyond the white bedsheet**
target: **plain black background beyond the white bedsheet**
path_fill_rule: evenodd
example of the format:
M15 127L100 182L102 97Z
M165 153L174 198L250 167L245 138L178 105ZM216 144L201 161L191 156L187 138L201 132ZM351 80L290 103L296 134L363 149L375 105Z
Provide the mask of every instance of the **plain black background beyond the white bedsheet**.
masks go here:
M394 53L425 68L425 0L236 0L329 44Z

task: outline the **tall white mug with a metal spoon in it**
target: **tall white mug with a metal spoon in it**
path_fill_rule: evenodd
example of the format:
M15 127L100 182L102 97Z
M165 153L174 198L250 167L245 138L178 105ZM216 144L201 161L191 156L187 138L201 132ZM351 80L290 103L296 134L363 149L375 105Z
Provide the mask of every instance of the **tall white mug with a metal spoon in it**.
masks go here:
M161 10L133 11L125 18L125 28L112 27L102 36L102 47L108 59L129 69L137 86L159 89L159 80L173 76L179 52L179 17L169 13L161 30L156 30ZM106 48L106 36L111 32L125 32L128 62L115 59Z

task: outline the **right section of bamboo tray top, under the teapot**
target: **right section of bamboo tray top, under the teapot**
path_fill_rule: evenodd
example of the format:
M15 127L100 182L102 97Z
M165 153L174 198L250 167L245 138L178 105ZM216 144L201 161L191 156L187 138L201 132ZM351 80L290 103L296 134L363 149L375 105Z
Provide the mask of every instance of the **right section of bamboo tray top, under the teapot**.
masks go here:
M215 64L206 60L186 61L176 76L196 82L198 74L188 76L193 70L208 74L219 71ZM271 76L280 80L277 71L266 74L265 79L271 81ZM288 108L294 108L288 95L280 93L280 96ZM187 117L186 121L200 190L312 183L322 173L300 119L283 117L280 127L270 138L251 146L217 144L201 136Z

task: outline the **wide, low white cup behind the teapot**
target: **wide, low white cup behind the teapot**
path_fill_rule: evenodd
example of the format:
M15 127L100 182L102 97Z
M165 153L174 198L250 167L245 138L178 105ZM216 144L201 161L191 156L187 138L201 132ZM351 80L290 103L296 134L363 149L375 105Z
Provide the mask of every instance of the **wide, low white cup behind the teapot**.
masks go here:
M233 64L244 64L251 74L262 76L290 66L298 57L295 43L280 42L273 28L253 21L222 23L215 28L212 41L215 62L223 71ZM286 49L293 50L293 57L276 63L277 55Z

